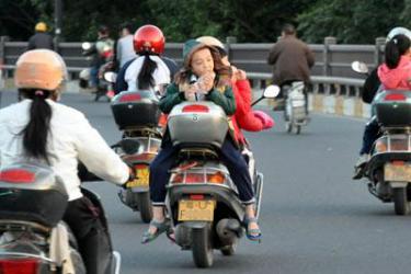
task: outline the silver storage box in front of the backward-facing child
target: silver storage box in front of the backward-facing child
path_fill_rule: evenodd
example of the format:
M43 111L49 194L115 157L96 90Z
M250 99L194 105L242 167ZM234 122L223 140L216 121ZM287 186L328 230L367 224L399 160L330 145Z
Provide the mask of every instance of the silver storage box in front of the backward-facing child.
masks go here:
M175 105L168 118L173 145L221 147L227 132L227 115L213 102L184 102Z

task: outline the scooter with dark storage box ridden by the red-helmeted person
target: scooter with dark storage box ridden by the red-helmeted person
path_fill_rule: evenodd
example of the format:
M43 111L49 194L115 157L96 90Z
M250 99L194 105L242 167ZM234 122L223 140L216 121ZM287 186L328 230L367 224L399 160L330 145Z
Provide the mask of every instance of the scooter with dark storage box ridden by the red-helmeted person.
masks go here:
M126 190L119 191L118 196L126 206L140 212L145 222L152 218L149 165L160 149L162 138L158 104L159 98L148 90L123 91L112 100L114 119L123 132L122 140L113 148L128 165L135 168L137 176L127 183ZM128 142L130 149L122 149L124 142Z

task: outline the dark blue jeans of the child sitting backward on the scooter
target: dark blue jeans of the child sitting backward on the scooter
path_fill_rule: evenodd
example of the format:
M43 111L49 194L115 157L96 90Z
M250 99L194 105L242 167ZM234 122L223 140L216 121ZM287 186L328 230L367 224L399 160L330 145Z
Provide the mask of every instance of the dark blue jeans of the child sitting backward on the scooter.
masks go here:
M176 163L179 149L170 141L163 144L160 152L150 164L150 197L152 205L164 205L168 184L171 173L170 169ZM247 162L241 152L226 138L220 150L220 160L226 164L231 179L237 185L239 197L243 204L254 203L254 192Z

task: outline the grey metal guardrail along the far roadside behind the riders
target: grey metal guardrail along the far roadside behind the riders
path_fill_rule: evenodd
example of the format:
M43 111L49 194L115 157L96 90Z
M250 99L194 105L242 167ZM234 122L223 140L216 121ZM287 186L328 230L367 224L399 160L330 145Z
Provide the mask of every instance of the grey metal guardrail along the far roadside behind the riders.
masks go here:
M229 41L228 41L229 42ZM24 52L26 42L9 42L0 36L0 69L3 77L12 76L14 64L19 55ZM351 61L362 60L369 67L381 61L385 38L376 38L375 45L336 45L333 37L326 37L323 44L309 45L316 56L316 64L311 70L311 92L359 96L364 84L363 79L351 70ZM181 43L168 43L165 55L179 64L182 62ZM263 88L271 80L271 66L266 57L273 44L232 44L227 43L230 61L248 72L253 87ZM89 66L89 60L81 55L81 43L60 43L59 54L64 57L70 79L77 79L79 72ZM2 65L2 66L1 66Z

